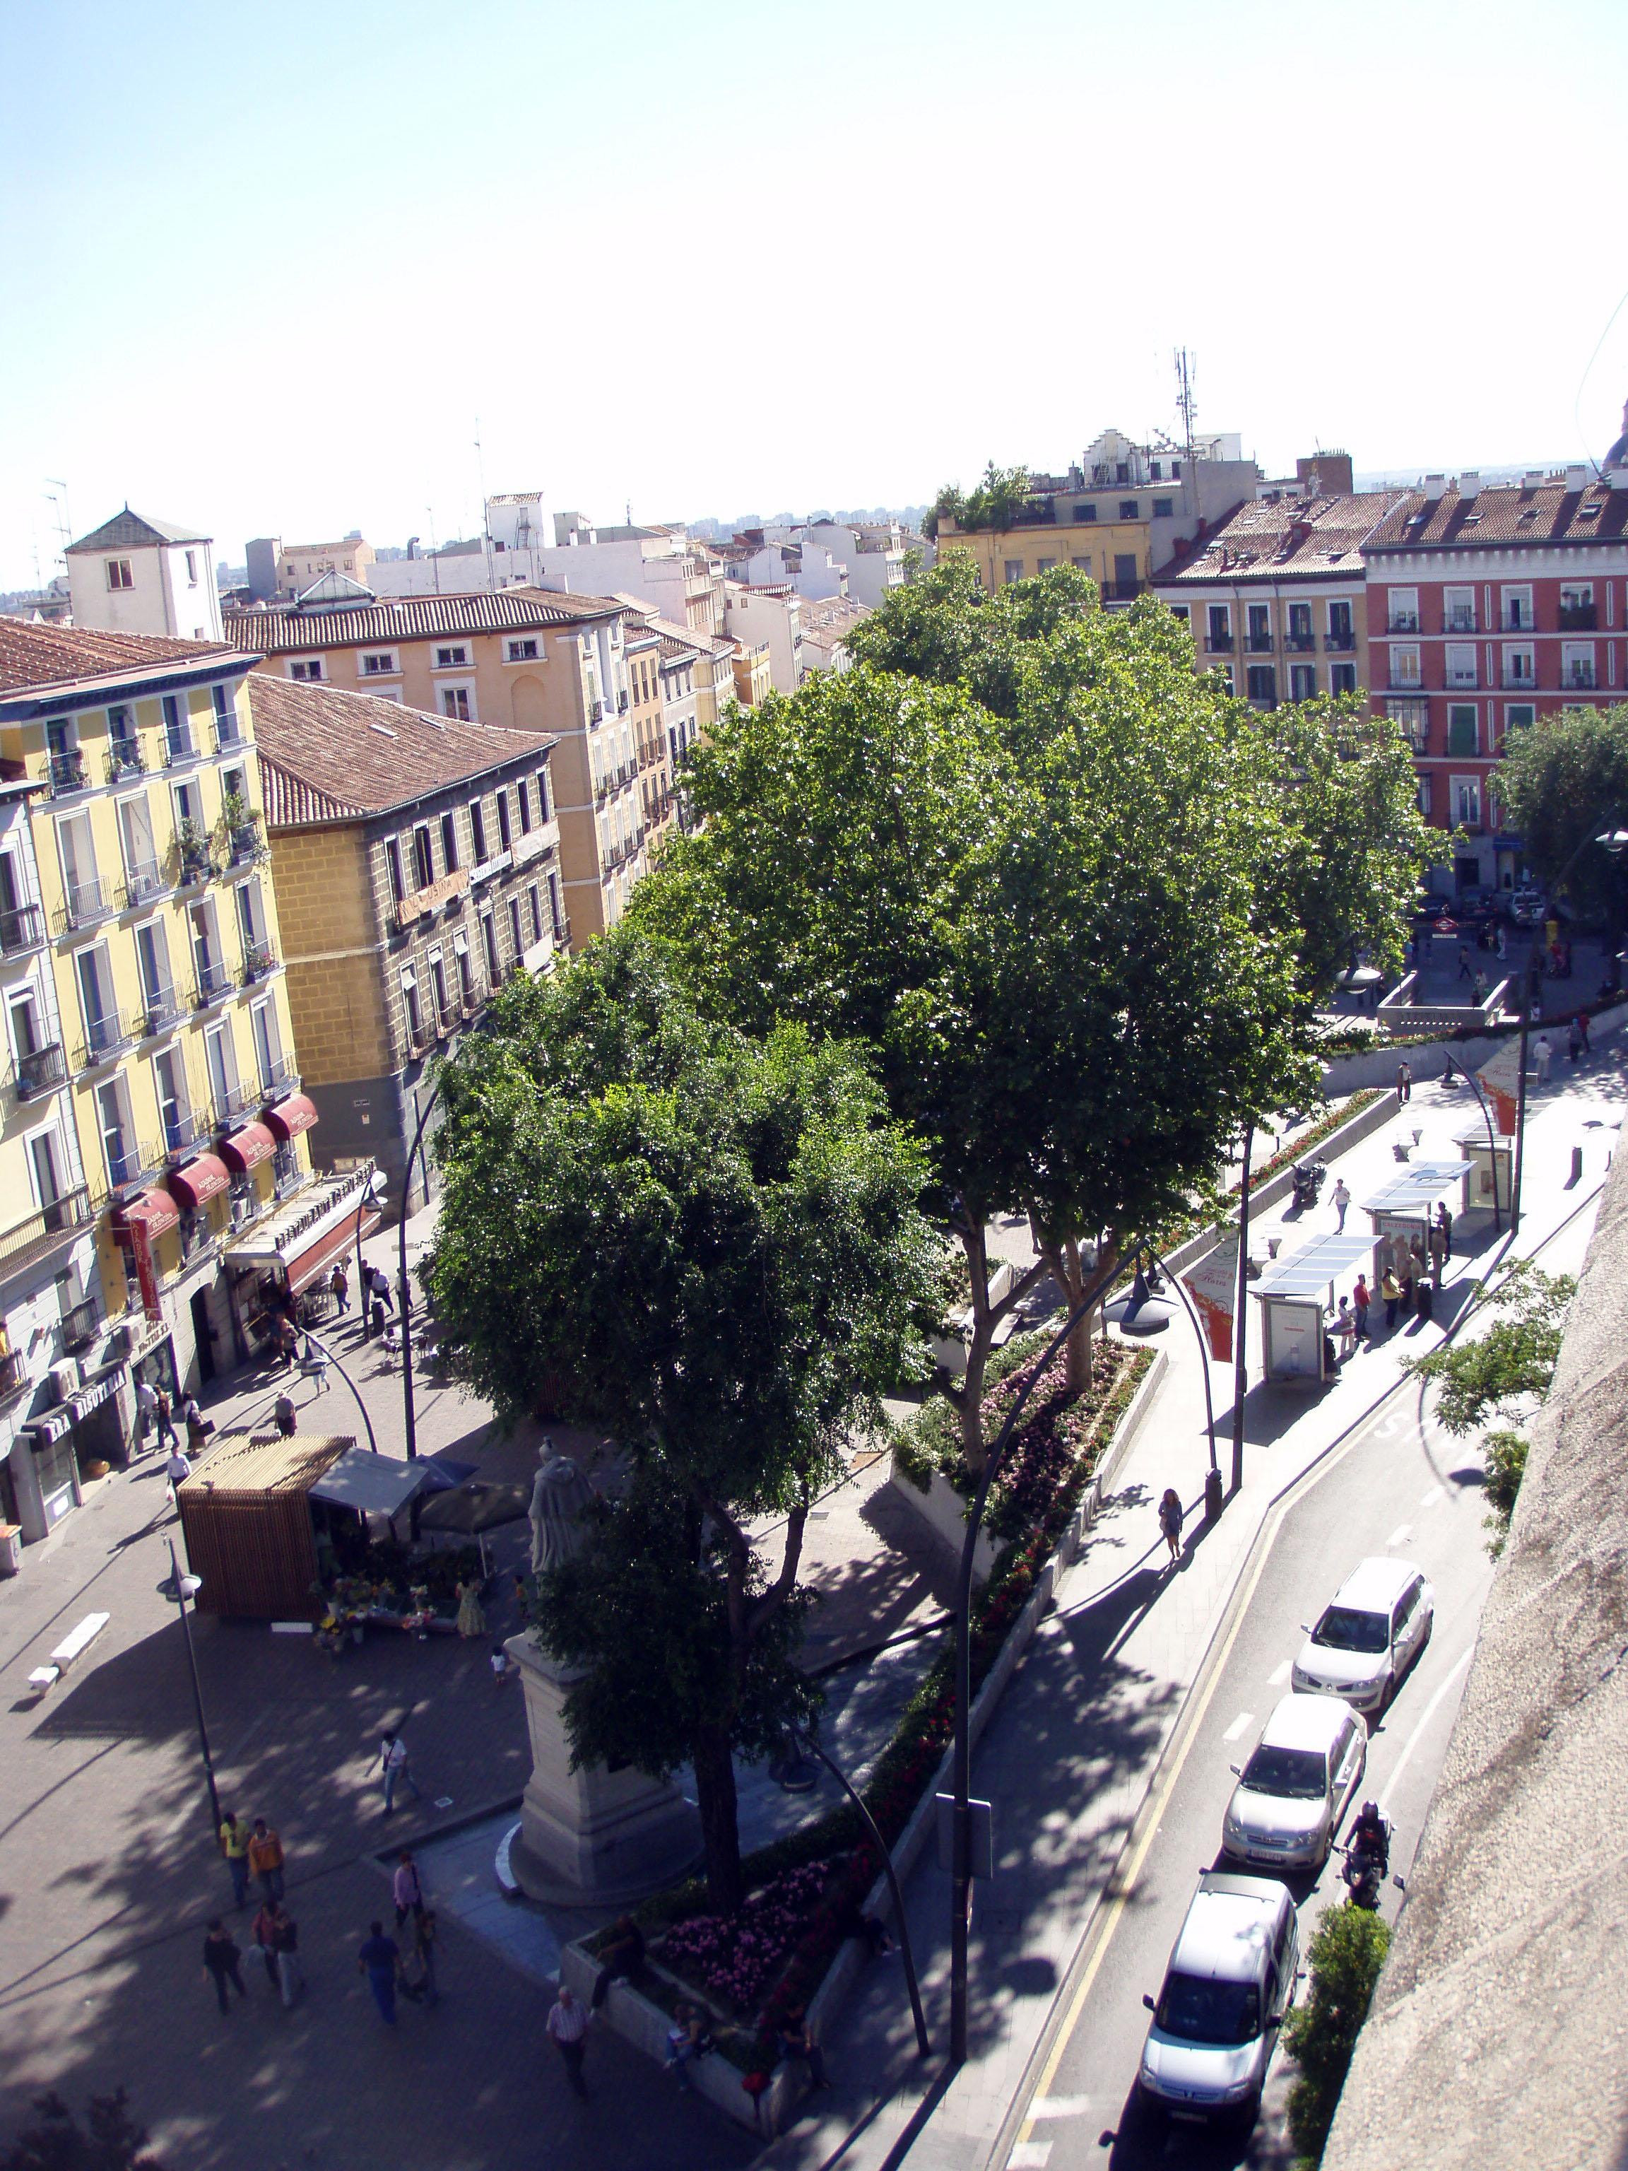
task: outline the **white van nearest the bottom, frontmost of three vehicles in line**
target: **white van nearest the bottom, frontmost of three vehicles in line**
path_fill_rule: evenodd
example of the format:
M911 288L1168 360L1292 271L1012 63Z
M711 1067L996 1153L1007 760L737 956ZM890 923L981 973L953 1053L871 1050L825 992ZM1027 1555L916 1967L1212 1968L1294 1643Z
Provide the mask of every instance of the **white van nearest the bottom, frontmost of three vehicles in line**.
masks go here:
M1177 2119L1229 2119L1246 2132L1298 1969L1294 1895L1274 1878L1209 1869L1187 1904L1142 2045L1137 2093Z

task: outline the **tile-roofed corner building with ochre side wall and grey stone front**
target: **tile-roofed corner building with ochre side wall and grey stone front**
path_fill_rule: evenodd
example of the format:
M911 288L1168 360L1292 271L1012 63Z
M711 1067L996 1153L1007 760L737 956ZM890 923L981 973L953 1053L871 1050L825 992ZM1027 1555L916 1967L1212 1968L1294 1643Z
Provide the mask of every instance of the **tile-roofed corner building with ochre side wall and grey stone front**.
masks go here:
M378 1164L412 1214L430 1057L569 940L554 740L326 684L252 693L302 1088L334 1159Z

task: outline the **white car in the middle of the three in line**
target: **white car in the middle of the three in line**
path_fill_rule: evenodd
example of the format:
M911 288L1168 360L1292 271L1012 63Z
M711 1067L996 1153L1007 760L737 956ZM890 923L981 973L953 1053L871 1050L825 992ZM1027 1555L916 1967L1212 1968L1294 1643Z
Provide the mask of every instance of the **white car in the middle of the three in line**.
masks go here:
M1272 1869L1322 1869L1363 1782L1368 1728L1333 1696L1285 1696L1237 1772L1222 1850Z

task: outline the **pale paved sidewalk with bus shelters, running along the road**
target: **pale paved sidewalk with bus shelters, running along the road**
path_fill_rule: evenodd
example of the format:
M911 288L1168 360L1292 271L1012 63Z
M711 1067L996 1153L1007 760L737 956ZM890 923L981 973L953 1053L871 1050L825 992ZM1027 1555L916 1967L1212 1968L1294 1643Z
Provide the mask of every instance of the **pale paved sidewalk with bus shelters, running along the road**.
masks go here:
M1576 1075L1561 1064L1552 1088L1532 1103L1522 1253L1589 1201L1567 1235L1580 1250L1591 1198L1617 1142L1613 1127L1624 1114L1617 1049L1595 1053ZM1337 1170L1352 1190L1348 1229L1368 1227L1357 1209L1396 1168L1394 1138L1417 1127L1420 1157L1457 1159L1454 1140L1467 1129L1465 1099L1415 1090L1407 1109L1341 1157ZM1574 1144L1585 1148L1585 1177L1569 1190ZM1296 1240L1331 1231L1331 1190L1333 1168L1311 1214L1298 1216L1287 1201L1259 1214L1250 1250L1263 1255L1270 1235L1281 1235L1289 1250ZM975 1891L968 2065L923 2112L942 2073L949 2019L949 1878L929 1856L907 1880L905 1906L940 2056L920 2069L899 1960L873 1963L827 2043L836 2089L812 2097L803 2121L768 2149L764 2162L775 2171L814 2171L834 2160L849 2134L844 2171L873 2171L894 2160L890 2151L901 2145L920 2171L988 2164L1272 1502L1396 1387L1402 1355L1441 1342L1470 1285L1487 1270L1491 1216L1461 1220L1454 1242L1459 1255L1430 1326L1398 1329L1389 1342L1361 1350L1315 1398L1252 1385L1244 1405L1244 1489L1216 1528L1200 1520L1207 1446L1194 1337L1181 1320L1161 1337L1170 1357L1161 1400L975 1754L972 1791L994 1804L996 1876ZM1250 1320L1250 1348L1259 1348L1259 1318ZM1231 1370L1213 1370L1213 1392L1226 1474ZM1159 1570L1163 1548L1153 1515L1168 1483L1179 1485L1190 1509L1190 1544L1177 1574Z

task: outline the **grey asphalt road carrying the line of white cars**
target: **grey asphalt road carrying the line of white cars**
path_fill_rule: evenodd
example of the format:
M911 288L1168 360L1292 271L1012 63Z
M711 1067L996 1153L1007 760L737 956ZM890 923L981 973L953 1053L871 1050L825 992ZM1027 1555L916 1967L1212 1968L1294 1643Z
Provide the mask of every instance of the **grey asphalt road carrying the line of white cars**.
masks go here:
M1059 2047L1029 2106L1027 2141L1009 2158L1014 2171L1292 2162L1283 2119L1292 2069L1283 2054L1272 2062L1261 2119L1246 2143L1140 2110L1133 2084L1148 2026L1142 1993L1157 1993L1163 1980L1200 1869L1224 1867L1220 1828L1235 1785L1231 1765L1244 1761L1276 1700L1289 1693L1300 1624L1368 1554L1417 1563L1437 1596L1435 1633L1370 1735L1368 1774L1354 1798L1378 1795L1394 1824L1391 1871L1407 1876L1491 1585L1480 1459L1472 1442L1450 1439L1428 1418L1422 1426L1420 1389L1409 1383L1311 1470L1274 1515L1265 1550L1257 1550L1246 1574L1244 1604L1222 1630L1194 1715L1133 1839L1122 1897L1109 1900L1081 1956ZM1305 1965L1315 1917L1344 1897L1339 1856L1315 1880L1292 1882L1292 1891L1300 1902ZM1400 1900L1389 1887L1383 1913L1394 1917Z

